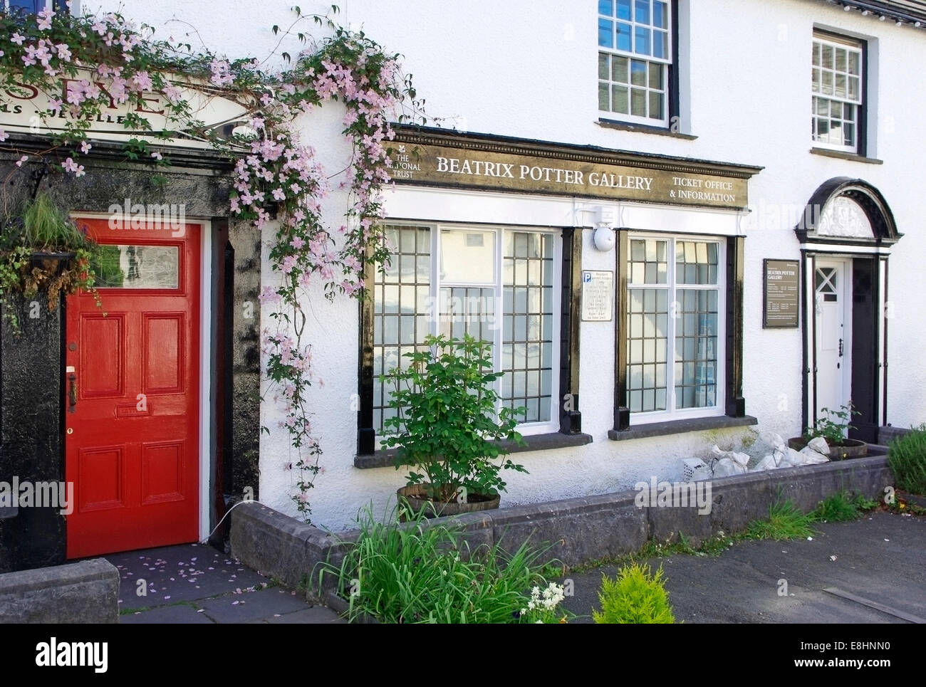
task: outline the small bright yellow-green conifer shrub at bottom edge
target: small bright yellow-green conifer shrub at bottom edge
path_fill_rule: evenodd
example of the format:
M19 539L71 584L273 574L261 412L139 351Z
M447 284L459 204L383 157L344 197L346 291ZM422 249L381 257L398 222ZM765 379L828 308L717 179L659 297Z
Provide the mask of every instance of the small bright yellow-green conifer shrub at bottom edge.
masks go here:
M601 611L593 611L592 618L596 623L675 622L662 578L661 567L652 575L643 563L624 566L614 580L605 575L598 593Z

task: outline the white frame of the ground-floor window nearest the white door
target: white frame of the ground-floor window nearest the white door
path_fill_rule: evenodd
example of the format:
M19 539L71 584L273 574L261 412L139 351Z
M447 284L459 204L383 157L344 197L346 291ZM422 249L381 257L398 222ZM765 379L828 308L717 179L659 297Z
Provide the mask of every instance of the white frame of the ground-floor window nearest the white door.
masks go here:
M669 350L666 352L666 409L665 410L655 410L648 412L631 412L630 414L630 425L631 427L651 424L653 422L665 422L667 420L673 419L687 419L687 418L716 418L722 415L726 415L725 408L725 393L726 393L726 372L727 372L727 273L726 273L726 264L727 264L727 242L720 236L710 236L710 235L700 235L700 234L678 234L678 233L662 233L662 232L638 232L633 231L628 235L628 242L633 241L634 239L650 239L657 241L668 241L669 242L669 252L667 259L669 260L669 266L667 269L667 283L666 284L633 284L630 283L630 275L628 275L627 281L627 290L636 289L666 289L669 292L669 327L666 336L667 344ZM710 244L717 245L717 284L678 284L675 279L675 251L676 244L680 241L696 241L696 242L707 242ZM630 256L627 256L628 264L630 262ZM717 370L715 374L714 384L717 388L717 395L715 398L716 404L714 406L702 406L695 408L676 408L675 407L675 333L676 333L676 323L681 316L672 317L672 307L673 303L678 302L677 294L679 289L693 289L696 291L711 291L717 290ZM628 293L628 301L630 300L630 294ZM630 314L628 312L628 314ZM621 329L621 335L625 340L629 340L630 332L627 331L627 323L620 323L623 329ZM627 351L627 366L628 368L634 364L630 357L630 347L628 346ZM628 380L629 384L629 380ZM621 404L626 404L629 408L630 403L626 398L621 399Z

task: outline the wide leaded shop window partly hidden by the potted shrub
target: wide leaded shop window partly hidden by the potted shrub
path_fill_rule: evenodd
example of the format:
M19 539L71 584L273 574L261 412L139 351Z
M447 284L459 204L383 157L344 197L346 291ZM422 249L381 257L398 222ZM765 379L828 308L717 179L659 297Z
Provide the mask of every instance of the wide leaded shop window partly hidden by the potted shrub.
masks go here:
M379 376L407 365L432 333L490 342L502 403L526 408L521 431L556 431L557 235L439 225L391 225L386 235L393 258L373 283L373 430L395 412Z

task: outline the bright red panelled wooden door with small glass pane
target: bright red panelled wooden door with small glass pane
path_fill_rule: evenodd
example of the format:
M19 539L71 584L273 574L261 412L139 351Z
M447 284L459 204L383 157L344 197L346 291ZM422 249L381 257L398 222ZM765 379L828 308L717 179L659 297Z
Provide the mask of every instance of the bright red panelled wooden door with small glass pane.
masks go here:
M102 311L90 294L67 303L68 557L194 542L201 228L79 223L106 244L106 286Z

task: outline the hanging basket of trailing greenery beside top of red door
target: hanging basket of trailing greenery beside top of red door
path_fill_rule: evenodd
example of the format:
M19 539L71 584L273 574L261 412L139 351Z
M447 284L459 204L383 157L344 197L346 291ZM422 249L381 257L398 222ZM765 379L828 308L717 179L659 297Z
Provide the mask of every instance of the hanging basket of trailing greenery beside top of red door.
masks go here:
M6 221L0 238L0 306L14 331L19 317L10 307L15 293L29 298L43 292L54 311L60 294L85 290L94 294L93 266L99 262L99 246L81 231L68 214L47 194L39 194L19 218Z

